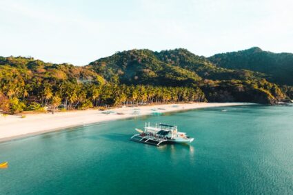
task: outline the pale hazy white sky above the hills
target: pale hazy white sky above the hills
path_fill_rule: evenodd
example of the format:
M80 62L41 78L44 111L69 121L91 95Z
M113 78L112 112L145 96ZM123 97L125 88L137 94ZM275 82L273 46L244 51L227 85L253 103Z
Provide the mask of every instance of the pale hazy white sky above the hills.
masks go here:
M0 0L0 56L85 65L114 52L293 52L293 1Z

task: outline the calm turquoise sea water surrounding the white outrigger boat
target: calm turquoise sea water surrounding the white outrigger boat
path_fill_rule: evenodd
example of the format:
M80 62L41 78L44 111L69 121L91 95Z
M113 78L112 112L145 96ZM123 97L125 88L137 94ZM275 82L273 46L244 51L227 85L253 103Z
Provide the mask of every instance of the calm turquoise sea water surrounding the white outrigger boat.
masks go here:
M0 143L0 194L293 194L293 107L240 106L111 121ZM190 145L129 141L145 121Z

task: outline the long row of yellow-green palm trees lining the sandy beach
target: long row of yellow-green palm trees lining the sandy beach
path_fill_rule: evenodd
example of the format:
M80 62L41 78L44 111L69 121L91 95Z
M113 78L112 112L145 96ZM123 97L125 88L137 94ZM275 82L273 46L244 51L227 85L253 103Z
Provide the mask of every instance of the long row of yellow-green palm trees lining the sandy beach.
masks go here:
M45 108L85 110L92 107L206 101L205 94L199 88L190 87L97 85L65 81L58 85L42 83L37 90L28 90L27 85L21 89L14 88L15 92L6 89L0 92L0 110L10 114L26 110L43 111Z

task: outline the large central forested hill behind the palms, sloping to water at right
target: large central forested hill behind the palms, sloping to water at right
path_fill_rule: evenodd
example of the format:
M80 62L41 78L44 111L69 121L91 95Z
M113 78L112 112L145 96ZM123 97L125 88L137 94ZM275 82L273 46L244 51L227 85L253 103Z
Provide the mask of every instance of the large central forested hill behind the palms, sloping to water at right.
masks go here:
M108 81L126 85L193 86L208 101L276 103L285 98L277 85L264 79L265 74L219 68L185 49L117 52L88 67Z

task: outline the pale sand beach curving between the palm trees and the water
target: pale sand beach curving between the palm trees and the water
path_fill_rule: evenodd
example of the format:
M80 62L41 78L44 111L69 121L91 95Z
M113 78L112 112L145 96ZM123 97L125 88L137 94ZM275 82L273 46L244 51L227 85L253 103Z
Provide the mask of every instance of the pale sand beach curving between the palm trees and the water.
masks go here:
M175 112L179 110L190 110L203 107L234 106L247 104L249 103L189 103L146 105L139 107L120 107L112 110L107 110L120 112L123 113L123 115L119 115L116 113L103 114L102 111L99 110L85 110L74 112L57 112L54 114L26 114L26 118L12 115L0 116L0 141L8 141L23 136L62 130L67 127L148 115L152 114L152 112ZM176 105L177 107L174 107L174 105ZM152 110L157 108L162 108L163 110ZM133 114L134 111L139 112L139 114Z

